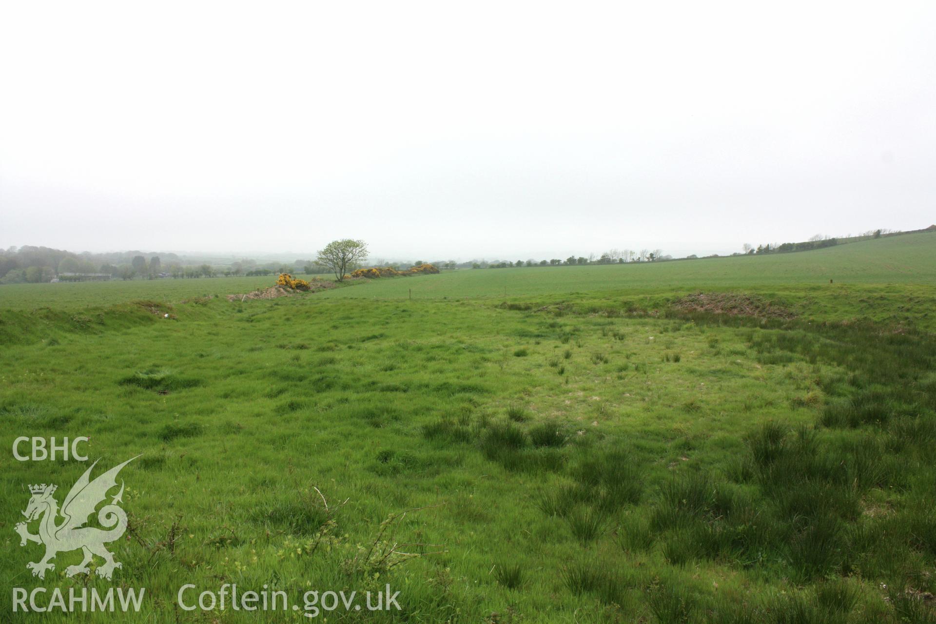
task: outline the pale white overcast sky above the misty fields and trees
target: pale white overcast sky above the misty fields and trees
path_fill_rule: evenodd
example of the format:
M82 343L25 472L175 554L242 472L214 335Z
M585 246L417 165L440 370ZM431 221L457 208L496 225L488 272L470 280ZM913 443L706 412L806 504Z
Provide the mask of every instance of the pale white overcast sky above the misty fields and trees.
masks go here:
M0 247L730 253L936 222L936 3L7 2Z

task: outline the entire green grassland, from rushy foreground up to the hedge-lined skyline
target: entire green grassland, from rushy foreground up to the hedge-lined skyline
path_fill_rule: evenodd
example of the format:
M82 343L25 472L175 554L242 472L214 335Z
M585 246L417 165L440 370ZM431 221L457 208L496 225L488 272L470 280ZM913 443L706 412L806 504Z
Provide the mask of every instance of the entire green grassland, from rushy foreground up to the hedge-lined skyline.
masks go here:
M243 303L0 287L0 621L300 622L309 590L389 585L400 611L316 619L931 622L934 273L922 234ZM697 291L767 318L680 307ZM95 474L140 456L123 568L67 578L60 553L39 580L25 486L61 503L87 465L9 452L81 435ZM236 583L290 608L186 611L189 583L186 603ZM14 613L38 587L146 593Z

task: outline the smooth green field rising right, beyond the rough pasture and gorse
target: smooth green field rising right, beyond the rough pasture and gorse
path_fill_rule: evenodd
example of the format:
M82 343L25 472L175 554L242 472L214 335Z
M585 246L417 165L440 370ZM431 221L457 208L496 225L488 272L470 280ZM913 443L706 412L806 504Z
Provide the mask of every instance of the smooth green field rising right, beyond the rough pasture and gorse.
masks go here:
M936 283L936 234L908 234L793 254L588 267L462 269L375 280L321 297L525 297L596 291L670 291L781 284Z

